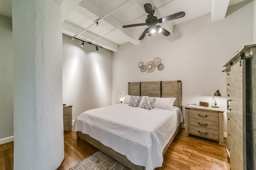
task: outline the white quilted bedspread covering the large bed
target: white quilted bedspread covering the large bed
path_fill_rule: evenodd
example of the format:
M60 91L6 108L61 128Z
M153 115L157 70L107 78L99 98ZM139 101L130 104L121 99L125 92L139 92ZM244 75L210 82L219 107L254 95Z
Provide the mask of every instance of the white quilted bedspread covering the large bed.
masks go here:
M132 163L153 170L162 166L163 149L181 122L178 107L175 111L148 110L116 104L85 111L76 118L74 130L90 135Z

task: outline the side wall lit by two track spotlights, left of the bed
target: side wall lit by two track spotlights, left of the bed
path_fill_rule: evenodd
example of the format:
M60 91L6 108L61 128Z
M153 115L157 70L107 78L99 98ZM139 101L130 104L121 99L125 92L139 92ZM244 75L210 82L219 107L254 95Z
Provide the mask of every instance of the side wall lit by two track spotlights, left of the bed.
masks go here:
M112 52L63 34L63 103L73 105L72 119L112 104Z

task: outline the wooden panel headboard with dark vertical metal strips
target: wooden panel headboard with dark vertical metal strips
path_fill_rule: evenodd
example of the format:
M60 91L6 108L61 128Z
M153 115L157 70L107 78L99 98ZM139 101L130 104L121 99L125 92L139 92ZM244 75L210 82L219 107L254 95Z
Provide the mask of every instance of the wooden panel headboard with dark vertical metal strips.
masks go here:
M182 109L181 81L129 82L128 95L176 98L174 106Z

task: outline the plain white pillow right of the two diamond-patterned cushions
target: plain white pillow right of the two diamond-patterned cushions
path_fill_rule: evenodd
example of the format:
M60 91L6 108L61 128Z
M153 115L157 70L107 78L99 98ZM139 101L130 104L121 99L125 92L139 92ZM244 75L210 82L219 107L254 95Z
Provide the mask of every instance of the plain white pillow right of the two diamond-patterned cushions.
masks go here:
M156 102L153 107L173 111L173 104L175 100L176 98L156 98Z

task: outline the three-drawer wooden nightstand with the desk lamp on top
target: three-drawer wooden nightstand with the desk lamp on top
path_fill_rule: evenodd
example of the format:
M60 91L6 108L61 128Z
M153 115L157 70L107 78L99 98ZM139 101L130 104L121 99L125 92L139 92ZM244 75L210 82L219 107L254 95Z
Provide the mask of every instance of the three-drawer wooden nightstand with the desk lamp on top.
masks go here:
M223 113L222 108L190 107L185 106L185 134L196 135L218 141L224 145L223 140Z

